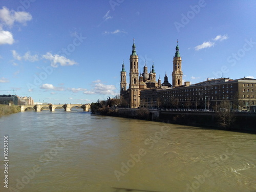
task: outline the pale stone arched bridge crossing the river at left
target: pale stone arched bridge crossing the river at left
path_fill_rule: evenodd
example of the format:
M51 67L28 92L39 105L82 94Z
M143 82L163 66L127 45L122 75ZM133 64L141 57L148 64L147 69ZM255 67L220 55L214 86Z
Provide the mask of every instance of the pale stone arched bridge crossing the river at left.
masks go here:
M79 106L83 111L89 111L91 109L91 104L37 104L37 105L20 105L20 112L26 111L28 108L33 108L36 112L42 110L42 108L47 107L50 111L55 111L55 108L62 107L65 111L71 111L74 106Z

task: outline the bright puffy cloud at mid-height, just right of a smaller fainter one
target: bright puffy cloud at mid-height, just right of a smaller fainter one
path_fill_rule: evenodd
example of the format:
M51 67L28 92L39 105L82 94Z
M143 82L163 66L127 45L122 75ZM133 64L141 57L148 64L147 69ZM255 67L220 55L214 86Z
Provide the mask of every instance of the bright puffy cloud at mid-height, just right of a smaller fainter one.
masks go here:
M74 60L70 60L66 57L60 56L60 55L52 55L51 53L46 53L46 55L42 55L42 57L44 57L45 59L48 59L51 61L51 66L54 68L58 67L58 63L61 66L73 66L75 64L77 64L77 62L75 62Z

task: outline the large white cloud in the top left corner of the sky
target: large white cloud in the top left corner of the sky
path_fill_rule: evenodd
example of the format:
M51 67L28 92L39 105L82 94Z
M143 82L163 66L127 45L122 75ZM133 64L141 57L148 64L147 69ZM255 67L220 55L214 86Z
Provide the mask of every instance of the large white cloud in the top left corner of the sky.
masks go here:
M9 27L12 27L14 22L26 25L26 22L28 22L31 19L31 14L25 11L16 12L14 10L9 10L6 7L0 9L0 20L4 23L4 25L7 25Z

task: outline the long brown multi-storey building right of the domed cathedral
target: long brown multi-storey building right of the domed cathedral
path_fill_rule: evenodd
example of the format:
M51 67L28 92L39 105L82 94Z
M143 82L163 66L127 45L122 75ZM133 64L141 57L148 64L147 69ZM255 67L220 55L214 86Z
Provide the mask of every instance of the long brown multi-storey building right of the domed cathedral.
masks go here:
M165 108L201 108L214 109L221 101L230 102L231 109L240 106L249 110L256 104L256 79L219 78L208 79L175 89L157 91L159 102Z

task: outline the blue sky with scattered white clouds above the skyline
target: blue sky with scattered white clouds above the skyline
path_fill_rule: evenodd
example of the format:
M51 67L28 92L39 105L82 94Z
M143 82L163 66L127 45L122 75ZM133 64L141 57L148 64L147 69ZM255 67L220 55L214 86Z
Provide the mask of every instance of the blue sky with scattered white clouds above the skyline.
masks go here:
M256 78L256 2L0 2L0 94L35 102L91 103L129 82L133 38L139 68L154 61L172 82L177 39L183 80ZM129 87L129 84L127 84Z

